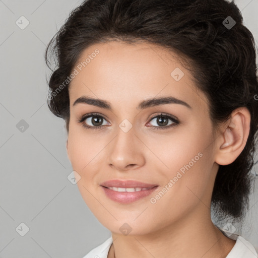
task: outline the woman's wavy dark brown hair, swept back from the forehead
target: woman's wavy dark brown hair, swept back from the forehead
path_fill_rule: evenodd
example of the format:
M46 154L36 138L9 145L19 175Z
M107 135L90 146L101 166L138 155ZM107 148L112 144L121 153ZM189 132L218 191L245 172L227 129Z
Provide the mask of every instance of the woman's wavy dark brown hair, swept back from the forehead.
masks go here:
M212 207L217 216L241 220L248 207L250 170L258 124L255 44L234 2L224 0L88 0L70 13L49 42L55 59L49 79L48 106L66 121L69 131L69 82L80 54L110 40L149 42L187 57L198 89L209 99L214 127L238 107L251 114L250 132L237 159L219 166ZM64 85L61 87L60 85ZM58 88L59 87L59 88ZM59 90L57 92L57 90ZM53 95L53 93L55 94ZM256 98L255 98L256 96Z

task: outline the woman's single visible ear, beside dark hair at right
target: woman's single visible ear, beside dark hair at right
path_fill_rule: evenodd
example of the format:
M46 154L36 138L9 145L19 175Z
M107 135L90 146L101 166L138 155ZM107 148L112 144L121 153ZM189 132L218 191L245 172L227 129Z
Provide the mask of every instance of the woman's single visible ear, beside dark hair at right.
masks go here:
M218 137L215 162L231 164L245 147L250 131L250 112L246 107L235 109Z

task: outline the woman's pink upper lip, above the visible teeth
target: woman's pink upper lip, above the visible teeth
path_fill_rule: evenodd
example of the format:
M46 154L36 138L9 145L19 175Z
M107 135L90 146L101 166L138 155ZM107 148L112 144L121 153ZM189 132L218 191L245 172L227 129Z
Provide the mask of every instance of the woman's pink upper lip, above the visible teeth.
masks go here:
M136 187L150 188L150 187L157 186L157 184L143 183L135 180L122 181L118 179L105 181L101 183L101 185L105 187L121 187L121 188L136 188Z

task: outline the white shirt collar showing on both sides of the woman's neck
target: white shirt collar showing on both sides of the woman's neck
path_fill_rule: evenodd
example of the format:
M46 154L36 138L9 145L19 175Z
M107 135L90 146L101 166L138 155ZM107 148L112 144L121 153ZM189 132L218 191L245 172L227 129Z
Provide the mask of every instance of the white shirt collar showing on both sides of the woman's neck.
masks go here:
M257 252L253 245L237 234L232 234L231 239L236 240L233 248L225 258L257 258ZM107 258L109 248L113 242L112 236L104 243L92 249L83 258Z

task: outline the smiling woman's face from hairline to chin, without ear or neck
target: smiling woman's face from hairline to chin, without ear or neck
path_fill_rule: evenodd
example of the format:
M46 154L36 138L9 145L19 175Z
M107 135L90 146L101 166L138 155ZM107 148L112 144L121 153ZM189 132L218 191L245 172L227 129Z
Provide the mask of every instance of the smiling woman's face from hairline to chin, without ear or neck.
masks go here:
M113 41L87 48L75 69L67 150L96 218L114 233L147 234L210 216L216 136L208 100L178 59L155 45ZM82 97L110 107L74 105ZM171 99L140 105L153 98ZM79 122L92 112L97 114ZM118 192L103 186L112 179L156 187L143 190L149 187L136 183Z

